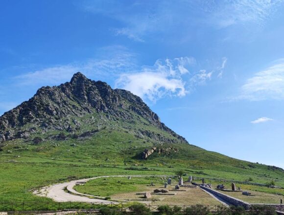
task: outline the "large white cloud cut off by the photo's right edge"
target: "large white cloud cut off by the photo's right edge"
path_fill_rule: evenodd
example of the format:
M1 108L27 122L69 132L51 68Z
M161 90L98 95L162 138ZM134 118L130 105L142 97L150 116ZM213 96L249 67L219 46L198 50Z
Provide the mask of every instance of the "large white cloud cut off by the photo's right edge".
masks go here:
M278 61L277 64L249 78L241 86L241 93L237 99L284 99L284 62Z

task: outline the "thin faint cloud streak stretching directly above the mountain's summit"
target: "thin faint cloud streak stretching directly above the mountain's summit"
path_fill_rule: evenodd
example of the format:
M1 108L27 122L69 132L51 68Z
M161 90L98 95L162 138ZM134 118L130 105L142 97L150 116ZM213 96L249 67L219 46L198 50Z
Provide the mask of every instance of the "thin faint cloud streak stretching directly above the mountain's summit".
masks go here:
M69 81L78 71L86 76L105 77L135 67L134 54L122 46L107 46L98 50L99 58L84 63L56 65L16 77L22 85L58 85Z

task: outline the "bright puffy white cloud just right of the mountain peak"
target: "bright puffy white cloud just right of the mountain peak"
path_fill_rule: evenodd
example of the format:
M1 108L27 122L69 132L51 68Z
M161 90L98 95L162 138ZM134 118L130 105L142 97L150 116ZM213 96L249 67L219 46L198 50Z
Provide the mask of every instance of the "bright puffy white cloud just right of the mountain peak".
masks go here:
M154 66L144 67L141 71L121 74L116 87L152 102L165 96L185 96L187 90L182 75L189 73L186 67L194 63L194 58L189 57L166 59L165 62L158 60Z

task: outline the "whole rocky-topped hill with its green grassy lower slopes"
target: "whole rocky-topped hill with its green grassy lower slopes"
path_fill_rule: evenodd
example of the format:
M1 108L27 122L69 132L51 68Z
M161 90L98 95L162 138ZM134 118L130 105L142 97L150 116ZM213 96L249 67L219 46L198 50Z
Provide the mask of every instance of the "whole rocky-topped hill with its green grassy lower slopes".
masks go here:
M284 170L189 145L141 98L77 73L0 117L0 202L52 201L30 190L99 175L188 175L284 187ZM145 149L155 147L147 159Z

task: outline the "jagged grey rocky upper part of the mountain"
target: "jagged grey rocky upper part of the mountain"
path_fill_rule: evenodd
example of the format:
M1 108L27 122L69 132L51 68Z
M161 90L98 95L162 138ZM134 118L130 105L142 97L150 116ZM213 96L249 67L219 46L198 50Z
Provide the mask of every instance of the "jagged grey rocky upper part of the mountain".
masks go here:
M60 86L41 87L31 99L4 113L0 117L0 141L29 138L39 130L73 132L82 126L74 117L91 113L101 113L99 117L104 120L122 121L131 121L138 115L173 138L165 138L148 130L139 130L137 135L157 141L187 143L185 138L161 123L158 115L140 97L127 90L112 89L104 82L92 81L80 72L74 74L70 82ZM72 128L71 124L76 128Z

